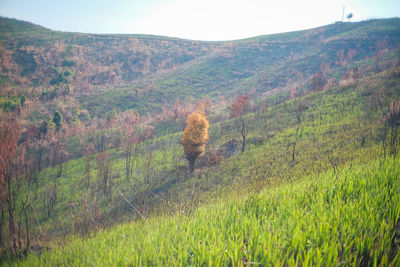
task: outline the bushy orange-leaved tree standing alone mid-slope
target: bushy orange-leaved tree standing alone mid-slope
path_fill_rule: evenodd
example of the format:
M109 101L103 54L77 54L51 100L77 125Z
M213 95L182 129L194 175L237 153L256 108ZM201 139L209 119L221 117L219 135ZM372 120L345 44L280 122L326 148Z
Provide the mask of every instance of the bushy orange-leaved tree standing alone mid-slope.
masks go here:
M194 162L197 157L203 156L208 142L209 123L204 113L204 107L190 114L187 126L183 132L182 145L189 161L189 170L194 171Z

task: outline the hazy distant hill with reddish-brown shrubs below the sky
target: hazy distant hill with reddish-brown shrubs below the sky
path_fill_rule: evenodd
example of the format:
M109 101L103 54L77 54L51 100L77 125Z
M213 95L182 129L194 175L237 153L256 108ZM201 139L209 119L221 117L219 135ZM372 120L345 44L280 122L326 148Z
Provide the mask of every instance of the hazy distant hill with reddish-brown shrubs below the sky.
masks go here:
M224 42L57 32L8 18L0 25L3 96L70 94L93 114L110 105L159 111L177 98L263 94L290 84L305 90L319 70L340 79L351 64L374 57L378 41L387 51L400 43L398 18Z

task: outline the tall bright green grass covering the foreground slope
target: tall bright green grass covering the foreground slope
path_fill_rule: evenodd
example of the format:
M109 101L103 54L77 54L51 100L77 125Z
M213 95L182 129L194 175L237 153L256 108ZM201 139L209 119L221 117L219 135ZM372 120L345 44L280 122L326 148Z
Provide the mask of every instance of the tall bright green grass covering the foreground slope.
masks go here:
M347 165L231 197L192 215L72 236L21 266L337 266L400 264L399 159Z

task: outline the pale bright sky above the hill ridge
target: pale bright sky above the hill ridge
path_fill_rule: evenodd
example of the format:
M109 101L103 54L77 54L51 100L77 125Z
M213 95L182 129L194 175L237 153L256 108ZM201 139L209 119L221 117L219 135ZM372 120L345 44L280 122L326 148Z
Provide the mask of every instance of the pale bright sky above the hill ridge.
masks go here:
M399 0L0 0L0 16L58 31L235 40L400 17ZM346 20L346 19L345 19Z

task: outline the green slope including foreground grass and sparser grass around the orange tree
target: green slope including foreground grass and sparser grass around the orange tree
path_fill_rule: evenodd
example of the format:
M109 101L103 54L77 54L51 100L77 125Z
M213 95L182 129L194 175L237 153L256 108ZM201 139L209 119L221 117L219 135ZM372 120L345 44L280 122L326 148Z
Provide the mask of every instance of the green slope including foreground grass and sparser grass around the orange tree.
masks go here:
M398 157L382 154L382 144L389 144L374 96L376 86L384 88L390 103L399 99L399 85L397 67L357 85L249 113L252 130L244 153L238 146L233 154L226 149L238 137L234 121L223 122L223 130L222 122L212 124L208 154L194 174L186 171L175 134L140 144L131 178L124 176L124 154L109 150L112 174L105 195L100 154L65 163L61 176L60 166L46 169L36 183L21 188L22 199L38 195L40 227L32 220L31 235L83 237L61 243L56 238L48 252L35 244L43 254L18 264L396 265ZM304 105L298 124L293 111ZM210 164L213 149L224 156ZM102 224L132 218L137 222L91 234Z

